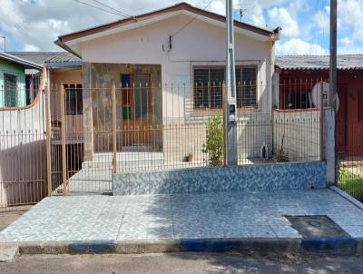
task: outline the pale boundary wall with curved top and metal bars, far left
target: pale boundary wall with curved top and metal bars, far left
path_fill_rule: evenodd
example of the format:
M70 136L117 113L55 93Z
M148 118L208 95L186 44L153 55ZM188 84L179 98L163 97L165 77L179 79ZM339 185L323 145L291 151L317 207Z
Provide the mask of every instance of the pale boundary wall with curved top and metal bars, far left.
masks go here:
M0 110L0 207L44 196L44 94L33 105Z

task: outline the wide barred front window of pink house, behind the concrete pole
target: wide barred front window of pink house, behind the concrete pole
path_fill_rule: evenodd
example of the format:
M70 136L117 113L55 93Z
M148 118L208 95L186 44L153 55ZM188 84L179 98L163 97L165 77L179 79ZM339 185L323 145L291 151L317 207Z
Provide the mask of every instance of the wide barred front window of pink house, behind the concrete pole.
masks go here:
M237 107L257 107L257 68L236 68ZM194 109L219 109L222 104L224 68L195 68Z

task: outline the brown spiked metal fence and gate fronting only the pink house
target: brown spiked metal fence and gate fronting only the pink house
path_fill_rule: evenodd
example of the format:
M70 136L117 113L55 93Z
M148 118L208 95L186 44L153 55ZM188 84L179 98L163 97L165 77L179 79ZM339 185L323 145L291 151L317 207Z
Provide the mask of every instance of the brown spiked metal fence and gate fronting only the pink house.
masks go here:
M223 165L223 88L51 87L52 190L110 192L113 173ZM321 159L321 112L311 105L271 113L267 89L237 85L238 163Z

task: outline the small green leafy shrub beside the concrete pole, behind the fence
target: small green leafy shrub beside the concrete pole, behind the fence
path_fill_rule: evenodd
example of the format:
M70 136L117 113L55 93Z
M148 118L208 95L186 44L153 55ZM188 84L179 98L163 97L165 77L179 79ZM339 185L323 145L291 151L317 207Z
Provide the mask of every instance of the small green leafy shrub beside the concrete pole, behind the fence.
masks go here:
M202 152L207 154L210 166L223 165L223 123L220 115L208 119Z

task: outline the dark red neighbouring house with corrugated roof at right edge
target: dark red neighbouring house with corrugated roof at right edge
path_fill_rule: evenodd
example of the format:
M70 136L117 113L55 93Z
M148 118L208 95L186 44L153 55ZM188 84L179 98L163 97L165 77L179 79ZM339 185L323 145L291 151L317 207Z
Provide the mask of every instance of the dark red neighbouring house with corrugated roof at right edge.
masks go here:
M275 107L314 109L311 91L317 82L329 82L329 56L277 56L276 67L275 80L280 89ZM363 156L363 54L338 55L337 81L338 152L342 156Z

